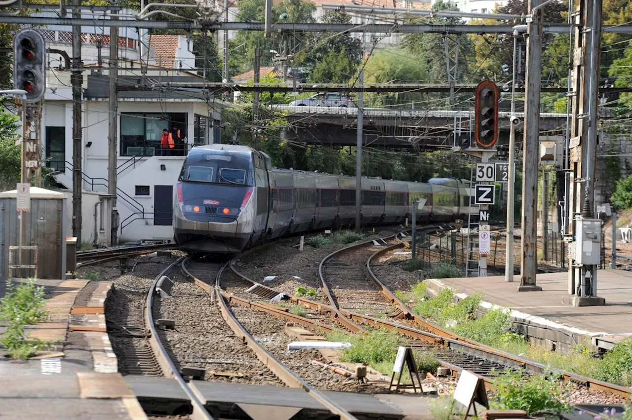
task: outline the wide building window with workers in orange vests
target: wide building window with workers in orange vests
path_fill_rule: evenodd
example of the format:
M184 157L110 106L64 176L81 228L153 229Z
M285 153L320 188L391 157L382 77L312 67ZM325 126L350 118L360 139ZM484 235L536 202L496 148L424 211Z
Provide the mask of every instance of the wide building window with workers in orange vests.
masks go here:
M186 119L185 113L166 112L164 114L121 114L121 156L153 156L163 153L161 150L162 130L178 129L180 141L169 148L171 156L185 156Z

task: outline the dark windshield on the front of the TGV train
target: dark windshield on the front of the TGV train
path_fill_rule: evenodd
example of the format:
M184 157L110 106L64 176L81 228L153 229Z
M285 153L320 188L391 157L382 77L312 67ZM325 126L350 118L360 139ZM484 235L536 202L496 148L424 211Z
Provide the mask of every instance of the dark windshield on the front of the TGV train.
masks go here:
M190 153L179 180L252 186L252 159L250 153L216 150Z

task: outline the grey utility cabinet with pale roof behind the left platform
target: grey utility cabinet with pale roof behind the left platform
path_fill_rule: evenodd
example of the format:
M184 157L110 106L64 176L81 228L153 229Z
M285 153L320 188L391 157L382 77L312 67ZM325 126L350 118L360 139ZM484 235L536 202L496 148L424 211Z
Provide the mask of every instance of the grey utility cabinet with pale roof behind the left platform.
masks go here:
M48 189L30 188L30 212L27 218L27 243L37 246L37 277L40 279L66 279L66 198L62 193ZM17 211L17 191L0 193L0 272L5 279L9 276L9 246L20 245L20 219ZM18 251L13 251L13 264ZM24 251L32 264L32 252ZM16 269L20 277L34 276L31 269Z

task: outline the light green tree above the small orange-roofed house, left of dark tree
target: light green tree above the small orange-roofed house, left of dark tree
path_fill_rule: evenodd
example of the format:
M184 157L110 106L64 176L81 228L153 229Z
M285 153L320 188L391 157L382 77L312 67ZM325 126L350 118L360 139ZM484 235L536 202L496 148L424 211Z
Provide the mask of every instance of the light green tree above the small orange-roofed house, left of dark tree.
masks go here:
M265 19L265 0L240 0L237 4L237 21L258 21ZM305 0L281 0L272 4L272 21L286 21L289 23L312 23L312 14L316 10L313 3ZM273 53L270 50L283 52L283 41L288 42L288 51L296 54L300 50L301 43L308 35L304 33L274 34L271 38L265 38L264 33L255 31L240 31L234 40L229 42L231 61L240 71L253 68L255 62L255 48L260 47L260 66L269 66L272 63Z

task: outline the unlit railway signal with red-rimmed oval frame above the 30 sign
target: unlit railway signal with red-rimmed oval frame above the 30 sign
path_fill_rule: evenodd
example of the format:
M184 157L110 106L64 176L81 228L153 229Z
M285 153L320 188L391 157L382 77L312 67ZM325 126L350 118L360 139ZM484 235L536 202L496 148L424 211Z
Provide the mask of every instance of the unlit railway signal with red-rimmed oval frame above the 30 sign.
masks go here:
M498 99L498 87L493 81L478 83L474 124L474 139L478 147L494 147L498 140Z

